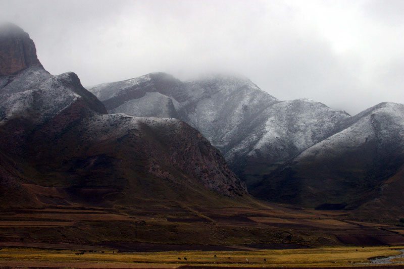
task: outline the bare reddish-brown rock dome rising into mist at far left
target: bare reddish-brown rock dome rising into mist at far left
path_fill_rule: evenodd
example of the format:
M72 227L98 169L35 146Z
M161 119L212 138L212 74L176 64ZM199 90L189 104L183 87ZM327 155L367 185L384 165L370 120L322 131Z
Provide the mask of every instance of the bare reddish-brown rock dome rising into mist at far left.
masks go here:
M0 76L12 75L30 66L42 66L32 39L16 25L0 25Z

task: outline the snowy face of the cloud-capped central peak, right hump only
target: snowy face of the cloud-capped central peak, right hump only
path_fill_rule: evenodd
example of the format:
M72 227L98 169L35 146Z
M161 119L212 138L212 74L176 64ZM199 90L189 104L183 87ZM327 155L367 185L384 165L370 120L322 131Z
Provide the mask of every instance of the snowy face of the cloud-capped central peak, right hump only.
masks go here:
M185 88L203 94L180 106L179 114L224 154L255 127L255 118L278 102L245 78L214 76L187 82Z

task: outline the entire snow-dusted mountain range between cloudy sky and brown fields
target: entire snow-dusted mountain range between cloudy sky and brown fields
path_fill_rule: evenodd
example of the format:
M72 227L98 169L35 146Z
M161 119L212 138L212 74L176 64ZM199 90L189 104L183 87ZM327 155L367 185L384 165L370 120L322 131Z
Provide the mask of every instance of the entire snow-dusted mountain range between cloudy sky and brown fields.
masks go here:
M223 74L88 91L49 74L19 27L0 41L0 207L259 204L251 194L364 218L404 209L402 104L352 117Z

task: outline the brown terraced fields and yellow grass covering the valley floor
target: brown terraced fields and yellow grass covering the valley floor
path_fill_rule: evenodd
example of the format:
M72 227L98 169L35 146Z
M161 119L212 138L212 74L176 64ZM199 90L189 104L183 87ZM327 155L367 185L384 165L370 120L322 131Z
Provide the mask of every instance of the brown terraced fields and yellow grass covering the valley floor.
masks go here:
M402 231L277 204L9 209L0 212L0 268L369 267L400 253Z

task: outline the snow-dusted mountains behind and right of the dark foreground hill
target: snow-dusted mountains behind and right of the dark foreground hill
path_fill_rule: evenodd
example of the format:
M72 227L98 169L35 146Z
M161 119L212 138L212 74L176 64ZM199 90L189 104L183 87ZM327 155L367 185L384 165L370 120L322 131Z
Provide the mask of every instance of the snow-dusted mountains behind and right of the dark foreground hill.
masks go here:
M402 204L402 104L351 117L311 99L278 100L223 74L180 81L151 73L89 91L109 113L188 123L260 199L323 209Z

